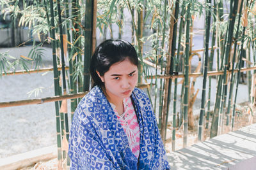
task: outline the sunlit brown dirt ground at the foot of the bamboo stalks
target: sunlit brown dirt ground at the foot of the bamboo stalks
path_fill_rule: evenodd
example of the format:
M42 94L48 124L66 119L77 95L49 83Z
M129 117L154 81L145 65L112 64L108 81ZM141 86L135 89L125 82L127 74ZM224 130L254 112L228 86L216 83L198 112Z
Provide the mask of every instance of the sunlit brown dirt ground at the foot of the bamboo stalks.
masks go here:
M211 121L210 121L211 122ZM225 122L225 120L224 120ZM236 108L236 117L234 124L234 131L240 129L241 127L245 127L250 124L256 123L256 107L250 106L248 103L244 103L243 106L237 106ZM195 125L198 124L198 120L195 118ZM209 124L209 129L211 129L211 124ZM205 129L205 139L209 139L210 130ZM223 133L225 134L229 132L229 128L223 128ZM172 124L168 124L167 133L172 133ZM183 129L182 127L176 131L176 140L175 140L175 150L179 150L183 148ZM191 146L198 142L197 139L197 127L189 128L188 131L188 146ZM166 139L166 152L172 152L172 138ZM22 168L20 170L52 170L57 169L57 159L52 159L47 162L38 162L31 167Z

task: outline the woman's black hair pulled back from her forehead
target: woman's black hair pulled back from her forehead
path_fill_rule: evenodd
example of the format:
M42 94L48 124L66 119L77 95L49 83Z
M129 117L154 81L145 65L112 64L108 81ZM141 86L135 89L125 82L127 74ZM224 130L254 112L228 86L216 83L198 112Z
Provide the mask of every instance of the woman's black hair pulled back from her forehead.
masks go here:
M99 85L100 87L104 85L96 71L99 71L100 76L103 76L112 64L122 62L127 58L132 64L138 67L138 55L131 43L120 39L108 39L100 43L93 53L90 63L93 87L95 85Z

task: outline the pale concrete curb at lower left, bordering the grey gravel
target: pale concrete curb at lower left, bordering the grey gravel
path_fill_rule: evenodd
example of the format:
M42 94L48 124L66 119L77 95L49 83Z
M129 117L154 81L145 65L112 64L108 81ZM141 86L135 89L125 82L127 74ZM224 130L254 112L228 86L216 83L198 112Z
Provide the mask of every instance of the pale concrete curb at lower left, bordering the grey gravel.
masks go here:
M20 169L22 167L31 166L36 162L51 160L56 157L57 146L53 145L0 159L0 169Z

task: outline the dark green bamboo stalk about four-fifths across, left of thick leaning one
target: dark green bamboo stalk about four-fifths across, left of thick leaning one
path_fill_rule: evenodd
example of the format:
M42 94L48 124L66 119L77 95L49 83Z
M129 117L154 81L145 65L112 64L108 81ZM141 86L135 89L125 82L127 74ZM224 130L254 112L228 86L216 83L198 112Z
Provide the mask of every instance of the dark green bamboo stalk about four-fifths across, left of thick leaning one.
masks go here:
M211 0L208 0L207 3L209 7L206 13L206 20L205 20L205 59L204 59L204 79L203 79L203 87L202 87L202 103L200 109L200 118L199 118L199 125L198 125L198 140L202 141L203 139L203 122L204 122L204 115L205 115L205 93L206 93L206 81L207 81L207 71L208 71L208 58L209 58L209 38L210 38L210 25L211 25Z

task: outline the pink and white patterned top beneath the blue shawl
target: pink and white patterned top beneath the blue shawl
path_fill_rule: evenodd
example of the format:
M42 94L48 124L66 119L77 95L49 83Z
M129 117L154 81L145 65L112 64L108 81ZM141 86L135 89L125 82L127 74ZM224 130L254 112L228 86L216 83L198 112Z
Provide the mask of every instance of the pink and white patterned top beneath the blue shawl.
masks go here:
M134 107L132 106L131 97L124 98L123 103L124 113L122 115L118 115L114 104L111 103L111 106L127 135L132 153L138 158L140 155L140 127Z

